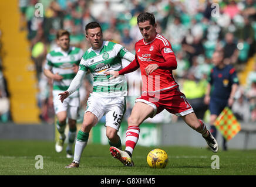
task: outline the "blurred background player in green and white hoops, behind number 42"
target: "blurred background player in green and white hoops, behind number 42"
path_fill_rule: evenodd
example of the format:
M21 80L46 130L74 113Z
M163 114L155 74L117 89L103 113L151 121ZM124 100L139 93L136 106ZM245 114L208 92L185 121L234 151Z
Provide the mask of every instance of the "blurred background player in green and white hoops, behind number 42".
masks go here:
M83 56L83 50L72 47L70 34L66 30L59 30L56 34L56 41L59 47L50 51L46 56L44 74L53 80L53 106L57 116L56 127L60 133L60 138L55 144L55 150L60 153L63 150L65 141L66 118L68 117L69 133L68 146L66 147L67 158L72 158L72 145L76 138L76 119L79 114L79 90L76 90L66 99L65 102L59 101L58 94L69 88L72 79L76 76L79 62Z

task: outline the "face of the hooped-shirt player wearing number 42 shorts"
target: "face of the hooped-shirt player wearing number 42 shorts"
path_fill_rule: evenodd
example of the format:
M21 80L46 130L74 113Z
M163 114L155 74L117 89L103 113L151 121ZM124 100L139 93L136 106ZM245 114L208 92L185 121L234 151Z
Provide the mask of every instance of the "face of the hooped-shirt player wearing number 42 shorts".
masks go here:
M100 47L102 47L103 36L102 36L102 30L100 30L100 27L97 27L95 29L88 29L86 34L86 39L92 45L92 49L97 50Z

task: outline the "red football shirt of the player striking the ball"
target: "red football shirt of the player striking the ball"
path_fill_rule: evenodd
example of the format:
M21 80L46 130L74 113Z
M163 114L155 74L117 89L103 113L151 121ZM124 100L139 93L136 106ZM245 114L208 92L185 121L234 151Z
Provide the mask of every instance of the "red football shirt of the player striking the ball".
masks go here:
M145 71L147 65L164 63L170 57L176 60L171 44L167 39L157 33L154 40L149 43L145 43L144 39L137 41L135 50L142 73L143 92L157 92L177 88L178 84L173 78L172 70L159 68L149 75Z

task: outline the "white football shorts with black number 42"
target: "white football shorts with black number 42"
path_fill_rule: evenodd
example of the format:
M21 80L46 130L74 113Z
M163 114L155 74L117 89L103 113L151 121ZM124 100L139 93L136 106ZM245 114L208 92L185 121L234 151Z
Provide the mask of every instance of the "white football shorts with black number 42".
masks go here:
M86 112L92 112L98 120L106 115L105 126L113 127L118 131L126 112L126 98L125 96L106 98L96 92L90 93Z

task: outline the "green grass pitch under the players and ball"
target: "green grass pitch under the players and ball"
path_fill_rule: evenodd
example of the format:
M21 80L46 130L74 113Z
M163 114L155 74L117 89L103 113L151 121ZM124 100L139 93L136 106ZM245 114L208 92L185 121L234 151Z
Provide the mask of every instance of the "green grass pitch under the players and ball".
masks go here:
M65 145L66 147L66 145ZM162 148L169 155L164 169L151 169L149 151ZM36 169L36 155L43 157L43 169ZM220 158L220 169L212 169L213 155ZM141 147L134 150L135 167L123 167L111 157L109 146L87 144L79 168L66 169L72 162L65 151L55 152L53 141L0 141L0 175L256 175L256 150L228 150L214 154L206 148Z

